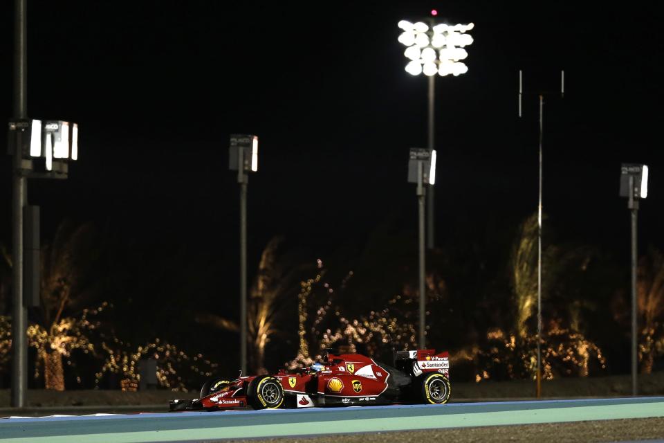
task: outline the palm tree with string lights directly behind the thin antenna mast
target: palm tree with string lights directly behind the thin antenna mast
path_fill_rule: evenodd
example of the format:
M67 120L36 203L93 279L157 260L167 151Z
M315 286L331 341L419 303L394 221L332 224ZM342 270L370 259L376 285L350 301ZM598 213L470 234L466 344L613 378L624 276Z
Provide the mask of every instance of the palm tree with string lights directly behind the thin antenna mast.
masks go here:
M509 339L504 338L506 349L519 350L517 354L522 354L517 357L524 362L527 372L533 372L536 365L533 348L537 346L537 337L530 328L533 327L533 311L537 307L537 229L537 214L534 214L520 227L513 248L510 264L517 311L515 334L509 334ZM600 348L579 330L582 309L592 308L592 304L580 298L577 291L567 288L565 283L567 280L578 282L594 255L587 246L548 244L542 249L544 309L540 344L544 346L542 364L545 378L553 377L554 372L587 376L591 360L593 364L597 361L598 367L605 368ZM502 331L500 335L508 336ZM561 360L560 355L570 357ZM567 368L569 365L566 363L570 359L575 362L574 370ZM556 370L557 367L560 369Z

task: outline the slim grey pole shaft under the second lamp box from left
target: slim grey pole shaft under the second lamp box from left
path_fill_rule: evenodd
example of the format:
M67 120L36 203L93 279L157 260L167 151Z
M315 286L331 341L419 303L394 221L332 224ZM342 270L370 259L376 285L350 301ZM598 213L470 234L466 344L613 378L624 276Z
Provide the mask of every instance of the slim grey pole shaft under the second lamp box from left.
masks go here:
M247 374L247 182L244 173L244 153L240 149L240 168L237 179L240 182L240 368Z

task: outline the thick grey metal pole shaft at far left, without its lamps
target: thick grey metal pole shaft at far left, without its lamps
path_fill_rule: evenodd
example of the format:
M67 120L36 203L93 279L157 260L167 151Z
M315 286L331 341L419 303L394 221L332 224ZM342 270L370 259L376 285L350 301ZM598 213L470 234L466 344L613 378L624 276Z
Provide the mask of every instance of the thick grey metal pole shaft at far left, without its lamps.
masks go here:
M14 2L14 116L27 115L27 33L26 0ZM26 178L21 174L21 136L17 136L12 177L12 398L15 408L26 406L28 390L28 311L23 300L23 208L26 204Z

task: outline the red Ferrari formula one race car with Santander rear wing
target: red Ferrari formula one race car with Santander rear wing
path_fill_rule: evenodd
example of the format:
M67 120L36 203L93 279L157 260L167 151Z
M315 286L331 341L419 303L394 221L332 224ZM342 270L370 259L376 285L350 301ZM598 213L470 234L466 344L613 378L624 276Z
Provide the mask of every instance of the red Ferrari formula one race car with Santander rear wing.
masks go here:
M448 352L400 351L394 368L360 354L324 355L296 372L211 379L201 398L173 400L170 410L311 408L394 403L443 404L450 399Z

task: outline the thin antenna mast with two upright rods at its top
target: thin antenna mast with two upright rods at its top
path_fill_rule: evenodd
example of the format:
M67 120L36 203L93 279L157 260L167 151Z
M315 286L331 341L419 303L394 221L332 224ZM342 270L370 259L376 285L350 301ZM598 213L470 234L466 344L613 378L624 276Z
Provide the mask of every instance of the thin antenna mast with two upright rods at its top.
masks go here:
M542 141L544 140L544 94L549 92L540 92L537 94L540 100L540 136L539 136L539 163L540 175L537 201L537 381L535 396L542 397ZM557 92L556 92L557 94ZM560 71L560 96L565 94L565 71ZM519 118L522 116L522 99L524 96L524 76L523 71L519 70Z

